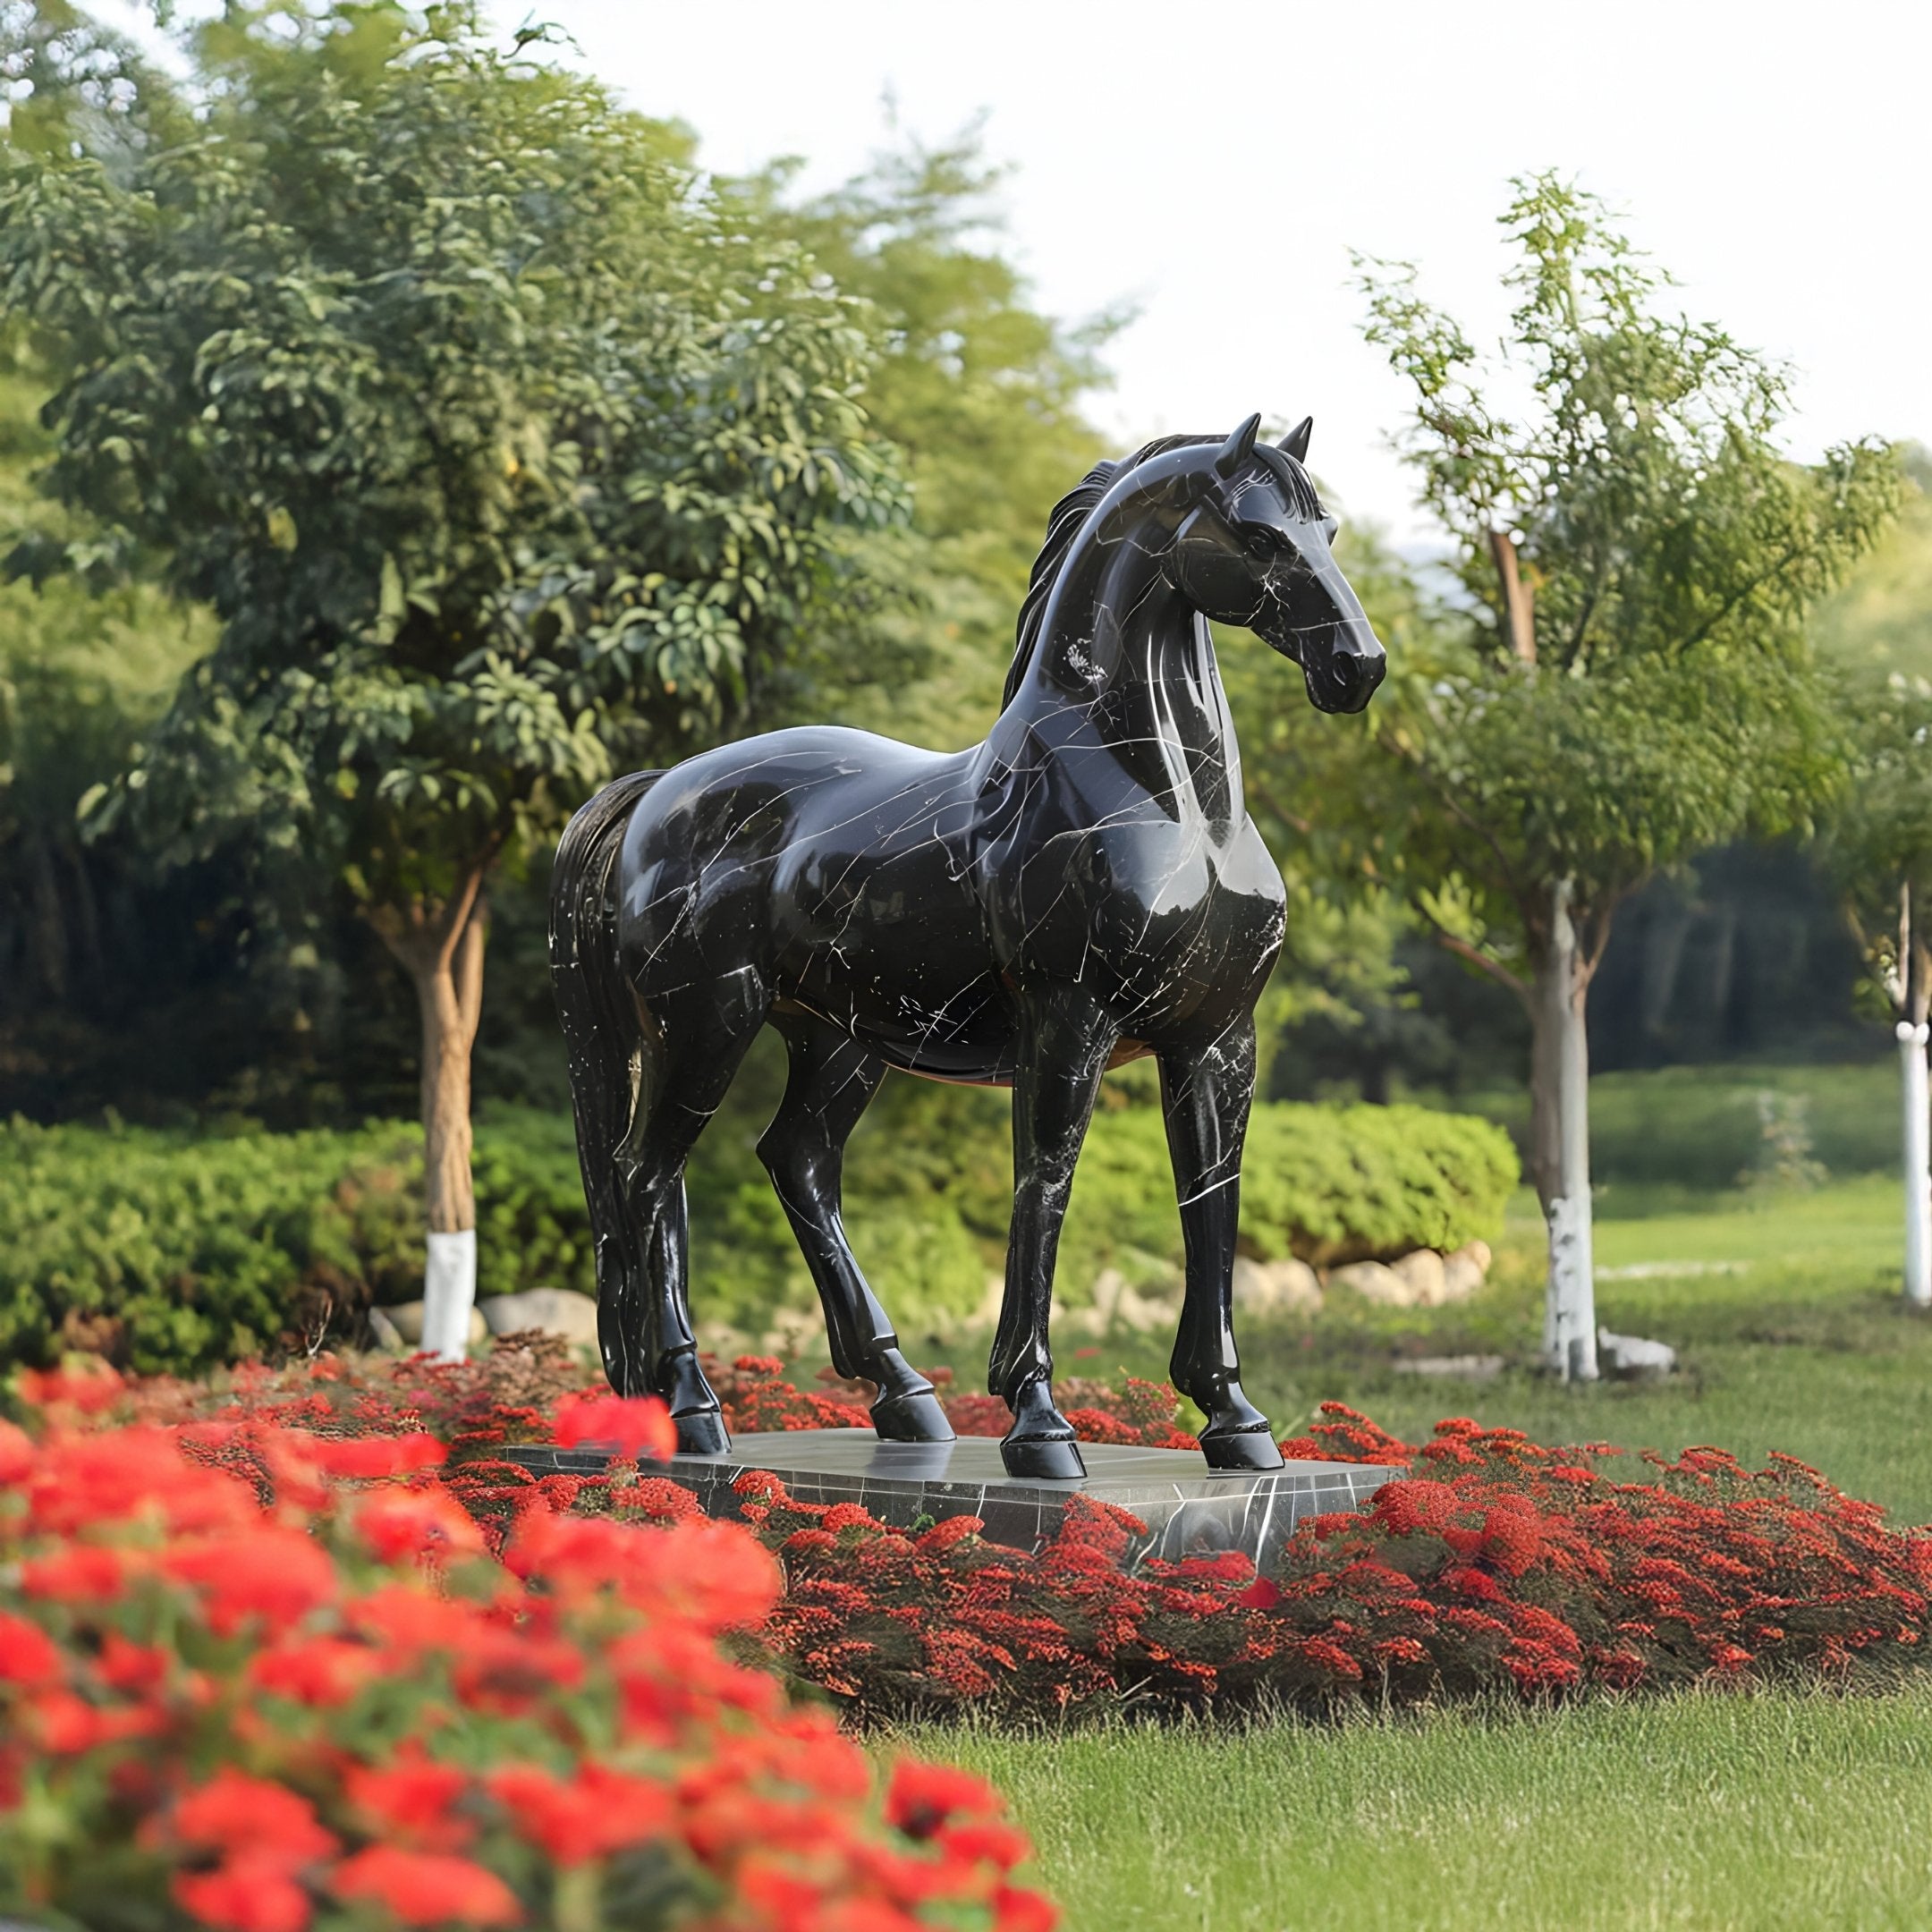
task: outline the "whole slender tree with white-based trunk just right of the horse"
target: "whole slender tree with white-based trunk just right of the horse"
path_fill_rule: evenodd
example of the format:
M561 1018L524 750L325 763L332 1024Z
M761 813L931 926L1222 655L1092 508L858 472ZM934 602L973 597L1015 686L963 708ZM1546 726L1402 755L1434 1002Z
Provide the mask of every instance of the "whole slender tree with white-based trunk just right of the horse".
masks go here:
M1658 869L1801 827L1832 790L1804 614L1889 522L1901 477L1872 440L1787 462L1783 371L1663 313L1667 278L1590 195L1542 174L1501 220L1519 259L1493 359L1412 267L1362 265L1459 595L1391 653L1356 734L1293 736L1294 788L1345 875L1399 891L1522 1001L1544 1345L1594 1378L1592 974Z

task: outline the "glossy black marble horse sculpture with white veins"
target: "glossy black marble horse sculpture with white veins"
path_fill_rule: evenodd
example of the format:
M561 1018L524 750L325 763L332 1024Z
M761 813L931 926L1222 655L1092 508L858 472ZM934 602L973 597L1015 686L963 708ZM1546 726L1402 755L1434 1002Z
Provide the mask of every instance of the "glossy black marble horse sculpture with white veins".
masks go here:
M1231 1327L1254 1003L1283 889L1248 819L1208 620L1300 665L1321 711L1383 674L1302 468L1258 417L1099 464L1053 512L1005 709L970 752L829 726L726 744L599 792L556 854L570 1045L611 1383L726 1443L692 1339L684 1163L761 1026L790 1082L759 1142L879 1435L945 1441L838 1217L846 1136L889 1066L1012 1088L1014 1200L989 1387L1016 1476L1084 1474L1053 1406L1061 1217L1109 1066L1155 1055L1186 1244L1175 1385L1211 1468L1277 1468Z

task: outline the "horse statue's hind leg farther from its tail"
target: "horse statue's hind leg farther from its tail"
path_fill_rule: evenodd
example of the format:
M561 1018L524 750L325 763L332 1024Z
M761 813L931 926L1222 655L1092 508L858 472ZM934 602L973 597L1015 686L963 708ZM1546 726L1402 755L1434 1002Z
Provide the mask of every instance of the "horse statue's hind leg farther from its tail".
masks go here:
M898 1352L898 1335L852 1260L838 1211L846 1136L879 1092L885 1063L811 1014L786 1012L771 1024L784 1037L792 1070L757 1157L825 1304L833 1368L879 1385L871 1422L887 1441L951 1441L933 1385Z

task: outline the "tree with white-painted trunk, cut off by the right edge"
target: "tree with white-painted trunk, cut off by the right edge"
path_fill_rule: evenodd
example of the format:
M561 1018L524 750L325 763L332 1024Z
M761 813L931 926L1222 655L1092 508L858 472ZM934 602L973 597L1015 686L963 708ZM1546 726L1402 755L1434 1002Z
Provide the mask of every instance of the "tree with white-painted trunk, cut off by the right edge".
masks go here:
M1866 672L1845 711L1851 782L1830 813L1826 864L1899 1041L1905 1148L1905 1300L1932 1308L1932 684Z

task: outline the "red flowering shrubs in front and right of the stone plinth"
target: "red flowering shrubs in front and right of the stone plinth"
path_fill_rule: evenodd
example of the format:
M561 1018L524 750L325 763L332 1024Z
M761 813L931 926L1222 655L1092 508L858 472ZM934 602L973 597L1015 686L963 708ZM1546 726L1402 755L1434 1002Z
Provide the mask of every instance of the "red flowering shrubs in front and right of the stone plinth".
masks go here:
M1602 1445L1466 1420L1410 1445L1339 1405L1283 1447L1414 1474L1304 1520L1269 1577L1235 1553L1128 1575L1140 1524L1080 1497L1024 1555L972 1519L900 1534L746 1476L746 1517L788 1573L767 1638L862 1710L1009 1716L1843 1679L1924 1648L1932 1538L1783 1457L1752 1472L1692 1449L1617 1482L1592 1466Z

